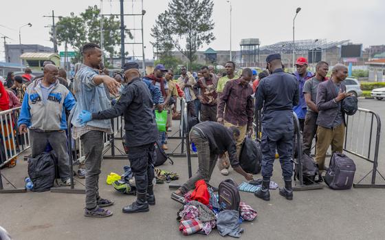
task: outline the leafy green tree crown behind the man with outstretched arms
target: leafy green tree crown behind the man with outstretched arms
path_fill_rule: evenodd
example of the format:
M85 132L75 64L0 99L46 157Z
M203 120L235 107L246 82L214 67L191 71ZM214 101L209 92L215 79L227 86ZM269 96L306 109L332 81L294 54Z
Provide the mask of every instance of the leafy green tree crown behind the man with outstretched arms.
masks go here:
M116 16L103 18L103 46L109 57L113 57L118 53L115 46L120 43L120 20ZM87 43L96 43L100 45L100 9L98 6L89 6L80 16L75 16L71 12L69 17L59 17L56 23L56 36L58 45L70 45L80 54L81 47ZM51 40L53 32L50 32ZM132 39L131 32L126 30L129 38ZM79 61L80 59L74 59Z

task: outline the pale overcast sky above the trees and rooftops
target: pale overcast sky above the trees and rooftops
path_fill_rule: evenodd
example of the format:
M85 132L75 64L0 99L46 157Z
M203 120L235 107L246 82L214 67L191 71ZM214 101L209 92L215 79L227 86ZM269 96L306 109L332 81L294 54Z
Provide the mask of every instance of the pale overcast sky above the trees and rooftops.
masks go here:
M137 1L137 0L135 0ZM210 44L214 50L228 50L230 47L230 4L226 0L214 1L214 35ZM153 56L153 41L150 29L157 15L167 8L168 0L144 0L144 44L146 58ZM135 2L140 3L140 2ZM125 1L125 11L132 11L132 1ZM40 44L52 47L49 28L45 25L52 19L43 15L69 16L70 12L83 12L87 6L100 6L100 0L1 0L0 34L9 36L8 43L19 43L19 27L32 23L32 28L21 29L21 43ZM118 13L119 0L103 0L103 13ZM296 18L296 39L327 39L338 41L350 39L352 43L369 45L385 44L385 1L257 1L232 0L232 50L239 50L241 39L259 38L261 45L292 39L292 23L296 8L302 10ZM126 25L132 19L126 18ZM135 21L140 23L140 19ZM2 36L2 35L1 35ZM4 58L1 39L0 60ZM207 45L201 50L206 50ZM63 47L59 47L59 51Z

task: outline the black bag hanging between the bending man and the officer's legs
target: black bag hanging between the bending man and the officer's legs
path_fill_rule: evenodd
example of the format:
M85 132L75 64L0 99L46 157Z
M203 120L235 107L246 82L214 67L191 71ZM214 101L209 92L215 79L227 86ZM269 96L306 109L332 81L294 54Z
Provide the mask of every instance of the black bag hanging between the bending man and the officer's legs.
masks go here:
M246 137L243 140L239 165L246 173L258 174L261 171L262 153L259 142Z

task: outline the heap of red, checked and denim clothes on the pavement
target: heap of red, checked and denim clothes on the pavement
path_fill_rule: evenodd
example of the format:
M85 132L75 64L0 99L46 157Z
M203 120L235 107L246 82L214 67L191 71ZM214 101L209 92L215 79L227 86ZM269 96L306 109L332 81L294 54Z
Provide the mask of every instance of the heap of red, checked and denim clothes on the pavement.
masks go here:
M219 234L225 237L241 237L241 223L253 221L257 212L244 202L240 202L239 210L223 210L214 194L203 179L195 183L195 190L184 195L186 204L177 212L179 231L184 235L194 233L210 234L217 227Z

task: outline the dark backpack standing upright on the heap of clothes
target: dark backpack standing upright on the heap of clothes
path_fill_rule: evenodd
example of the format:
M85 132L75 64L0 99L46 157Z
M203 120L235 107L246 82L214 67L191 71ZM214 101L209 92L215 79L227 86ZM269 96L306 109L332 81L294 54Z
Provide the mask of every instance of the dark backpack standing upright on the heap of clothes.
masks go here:
M218 202L222 210L239 210L241 196L238 184L232 179L225 179L219 184Z

